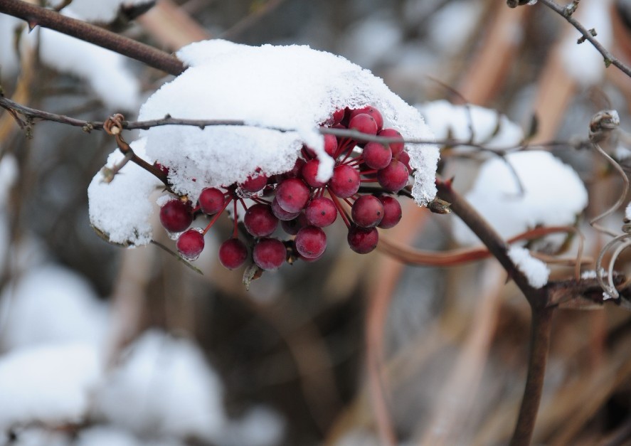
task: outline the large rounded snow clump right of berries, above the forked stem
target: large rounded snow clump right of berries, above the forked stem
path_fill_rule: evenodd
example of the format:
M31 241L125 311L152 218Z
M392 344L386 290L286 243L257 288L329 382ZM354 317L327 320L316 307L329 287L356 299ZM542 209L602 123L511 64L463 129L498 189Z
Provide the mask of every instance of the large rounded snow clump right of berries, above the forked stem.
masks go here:
M509 169L511 164L514 172ZM520 193L516 177L524 193ZM587 206L587 191L578 174L543 151L516 152L482 165L465 198L497 230L509 238L536 225L572 225ZM462 221L455 221L455 238L462 244L478 243Z

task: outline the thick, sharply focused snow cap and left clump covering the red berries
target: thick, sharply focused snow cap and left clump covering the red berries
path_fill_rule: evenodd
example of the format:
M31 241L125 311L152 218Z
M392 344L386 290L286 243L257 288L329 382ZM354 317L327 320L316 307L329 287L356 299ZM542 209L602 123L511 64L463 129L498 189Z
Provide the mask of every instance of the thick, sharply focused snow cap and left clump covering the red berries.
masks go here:
M303 143L320 158L319 179L328 179L333 160L324 152L318 130L339 108L373 105L386 125L398 129L403 137L431 138L418 111L391 92L383 80L331 53L307 46L252 47L213 40L192 43L177 55L189 68L149 97L139 120L170 115L247 124L205 129L174 125L141 132L148 159L169 166L174 191L188 195L193 202L203 188L243 181L258 168L267 175L290 170ZM423 206L435 197L438 148L407 144L406 149L410 164L418 169L413 194ZM90 194L90 219L110 238L115 228L115 240L120 243L148 243L151 232L142 217L134 215L133 221L124 222L118 221L124 211L112 212L122 201L147 201L147 183L134 186L131 177L137 174L131 166L123 172L130 177L125 186L105 191L108 186L102 185L103 193ZM90 187L95 188L98 181L99 175ZM138 190L131 191L134 187ZM134 206L125 208L137 214Z

